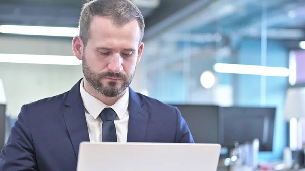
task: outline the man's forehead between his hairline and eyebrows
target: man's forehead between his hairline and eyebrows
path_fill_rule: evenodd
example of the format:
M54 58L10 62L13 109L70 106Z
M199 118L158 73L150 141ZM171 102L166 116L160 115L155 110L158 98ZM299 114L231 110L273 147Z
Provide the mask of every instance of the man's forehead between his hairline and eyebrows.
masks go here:
M94 42L138 44L141 31L136 19L118 26L109 17L94 16L90 25L90 35Z

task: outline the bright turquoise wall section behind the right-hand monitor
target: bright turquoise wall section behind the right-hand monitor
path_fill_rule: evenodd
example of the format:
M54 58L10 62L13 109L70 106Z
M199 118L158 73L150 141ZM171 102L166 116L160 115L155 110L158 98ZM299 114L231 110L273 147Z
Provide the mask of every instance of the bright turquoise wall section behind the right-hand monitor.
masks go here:
M238 54L239 64L261 65L261 42L259 39L246 39L241 43ZM267 66L288 67L288 54L279 41L268 40ZM284 121L283 105L288 77L266 77L266 87L261 86L261 76L238 75L237 101L241 106L274 106L277 107L273 152L260 153L260 159L280 159L286 144L287 132ZM265 104L261 104L261 88L266 90Z

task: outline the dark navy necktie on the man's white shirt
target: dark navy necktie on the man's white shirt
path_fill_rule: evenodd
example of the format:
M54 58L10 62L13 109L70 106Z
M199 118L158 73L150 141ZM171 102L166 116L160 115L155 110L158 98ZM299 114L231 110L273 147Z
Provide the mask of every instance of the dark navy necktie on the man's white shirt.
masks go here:
M102 124L102 141L103 142L117 142L116 130L114 125L114 119L116 113L112 108L105 108L100 117L103 121Z

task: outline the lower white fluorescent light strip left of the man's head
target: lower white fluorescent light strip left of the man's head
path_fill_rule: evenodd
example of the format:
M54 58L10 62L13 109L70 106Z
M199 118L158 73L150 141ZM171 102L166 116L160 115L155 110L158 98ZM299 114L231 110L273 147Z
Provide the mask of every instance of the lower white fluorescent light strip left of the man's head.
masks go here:
M75 56L25 55L25 54L0 54L0 62L53 64L53 65L81 64L81 60L78 60Z

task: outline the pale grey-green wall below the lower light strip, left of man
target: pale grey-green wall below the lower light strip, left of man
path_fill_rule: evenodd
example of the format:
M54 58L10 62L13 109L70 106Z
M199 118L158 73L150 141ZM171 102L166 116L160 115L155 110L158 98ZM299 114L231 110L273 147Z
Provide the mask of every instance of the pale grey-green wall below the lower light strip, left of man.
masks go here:
M81 66L0 63L0 78L13 118L23 104L68 91L81 77Z

